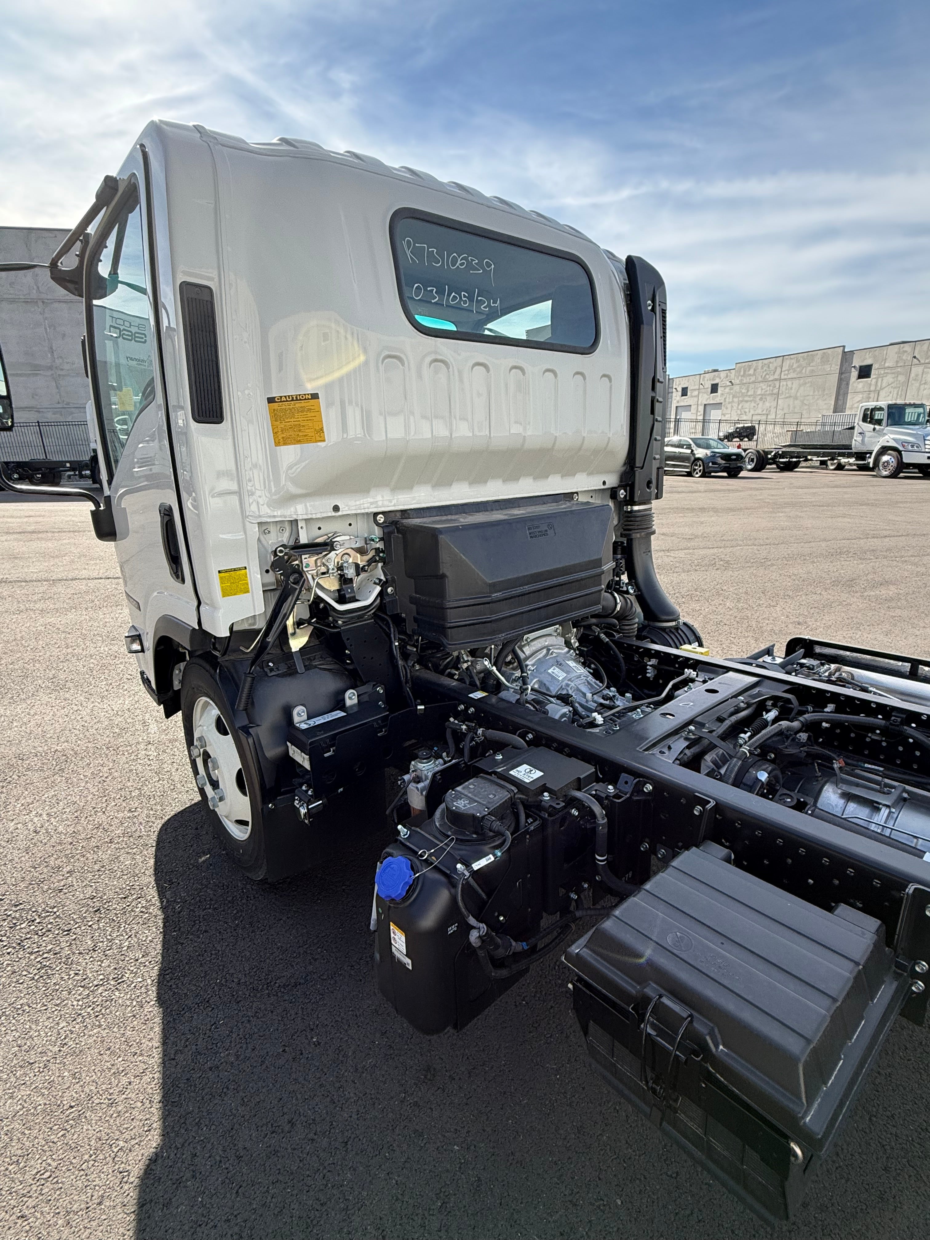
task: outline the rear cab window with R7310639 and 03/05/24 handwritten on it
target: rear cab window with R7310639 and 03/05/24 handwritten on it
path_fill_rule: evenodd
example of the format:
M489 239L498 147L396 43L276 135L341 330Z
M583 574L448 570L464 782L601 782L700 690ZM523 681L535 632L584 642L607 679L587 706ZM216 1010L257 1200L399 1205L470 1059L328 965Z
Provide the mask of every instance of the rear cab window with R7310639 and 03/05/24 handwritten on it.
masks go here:
M580 259L419 212L398 211L391 244L404 314L428 336L589 353L594 281Z

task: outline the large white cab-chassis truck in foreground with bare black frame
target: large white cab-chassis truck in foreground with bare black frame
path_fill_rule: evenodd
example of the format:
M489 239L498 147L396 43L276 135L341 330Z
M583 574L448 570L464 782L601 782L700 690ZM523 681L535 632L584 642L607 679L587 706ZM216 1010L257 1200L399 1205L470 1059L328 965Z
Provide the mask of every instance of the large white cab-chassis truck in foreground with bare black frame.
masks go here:
M311 864L393 769L387 1002L460 1029L593 923L596 1070L790 1216L924 1019L930 663L701 651L651 556L660 274L413 169L156 123L51 275L126 650L232 861Z

